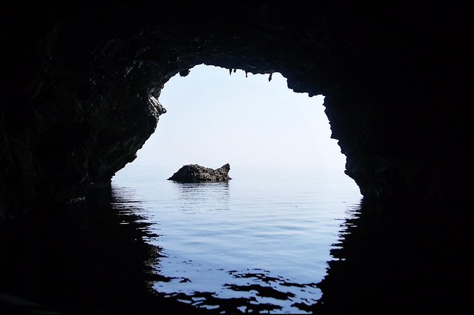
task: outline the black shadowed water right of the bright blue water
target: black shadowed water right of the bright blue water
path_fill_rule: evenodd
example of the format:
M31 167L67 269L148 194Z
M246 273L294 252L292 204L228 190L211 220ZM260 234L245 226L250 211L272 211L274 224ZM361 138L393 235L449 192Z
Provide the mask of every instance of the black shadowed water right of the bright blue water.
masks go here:
M472 206L471 206L472 207ZM331 251L315 314L471 314L473 214L465 201L364 200Z

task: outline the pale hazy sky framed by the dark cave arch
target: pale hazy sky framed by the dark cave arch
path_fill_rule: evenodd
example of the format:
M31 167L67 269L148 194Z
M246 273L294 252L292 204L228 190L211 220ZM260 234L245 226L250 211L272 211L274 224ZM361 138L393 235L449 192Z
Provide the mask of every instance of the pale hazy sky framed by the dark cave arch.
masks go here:
M323 95L294 93L279 73L270 82L268 77L200 65L186 77L171 78L159 97L168 112L133 164L344 170Z

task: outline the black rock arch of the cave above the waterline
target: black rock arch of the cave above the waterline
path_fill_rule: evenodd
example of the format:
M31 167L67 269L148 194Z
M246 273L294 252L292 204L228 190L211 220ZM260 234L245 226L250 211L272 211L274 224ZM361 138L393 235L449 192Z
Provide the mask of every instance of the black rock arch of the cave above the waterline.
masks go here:
M467 54L456 52L464 25L449 10L151 1L9 12L3 213L71 201L110 181L154 131L163 84L197 64L279 72L295 92L325 95L346 172L364 196L463 194L449 183L471 164L461 148L468 122L446 106L458 84L446 78Z

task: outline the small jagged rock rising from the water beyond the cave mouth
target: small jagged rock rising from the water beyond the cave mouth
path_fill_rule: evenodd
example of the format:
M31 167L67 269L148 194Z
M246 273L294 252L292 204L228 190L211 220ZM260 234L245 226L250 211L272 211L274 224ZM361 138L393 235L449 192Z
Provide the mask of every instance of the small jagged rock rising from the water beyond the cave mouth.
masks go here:
M183 183L228 182L231 165L227 163L216 170L197 164L184 165L168 180Z

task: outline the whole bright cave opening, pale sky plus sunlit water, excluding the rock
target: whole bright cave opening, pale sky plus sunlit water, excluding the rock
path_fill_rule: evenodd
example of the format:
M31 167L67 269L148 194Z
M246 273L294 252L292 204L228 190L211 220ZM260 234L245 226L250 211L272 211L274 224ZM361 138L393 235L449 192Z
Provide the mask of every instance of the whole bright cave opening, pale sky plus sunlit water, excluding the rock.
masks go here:
M166 83L168 112L112 178L113 206L154 235L153 288L165 297L230 313L311 311L359 189L323 96L293 93L279 73L230 74L196 66ZM225 163L229 183L166 180L186 164Z

